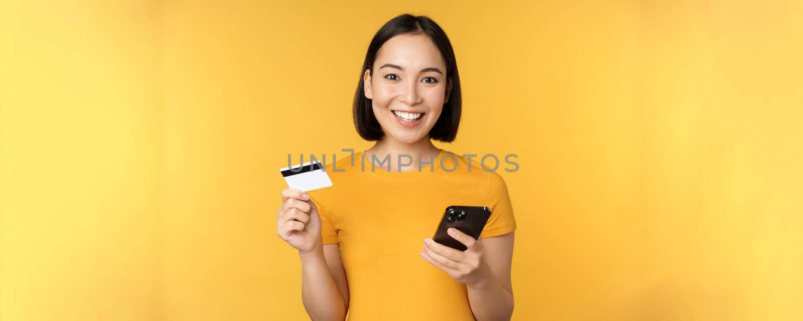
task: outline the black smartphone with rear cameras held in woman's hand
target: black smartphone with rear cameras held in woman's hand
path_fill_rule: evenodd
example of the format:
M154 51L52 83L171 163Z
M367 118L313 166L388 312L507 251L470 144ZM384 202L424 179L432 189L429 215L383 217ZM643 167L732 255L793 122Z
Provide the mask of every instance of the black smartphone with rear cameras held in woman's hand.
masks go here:
M446 230L454 227L465 234L471 235L472 238L478 239L479 234L483 232L483 227L485 227L488 217L491 217L491 209L487 206L451 205L446 207L446 211L444 211L441 222L438 224L438 229L435 230L435 236L432 239L434 242L449 246L454 250L466 250L467 247L450 237Z

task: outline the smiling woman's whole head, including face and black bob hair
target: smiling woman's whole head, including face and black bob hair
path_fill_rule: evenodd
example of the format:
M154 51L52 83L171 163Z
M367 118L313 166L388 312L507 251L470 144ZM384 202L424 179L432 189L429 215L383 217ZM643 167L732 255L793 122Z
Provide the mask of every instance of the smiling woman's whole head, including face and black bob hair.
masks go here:
M410 144L429 136L449 143L457 136L462 103L457 59L438 24L402 15L382 26L369 44L354 94L354 124L362 138L381 141L389 134ZM405 119L415 114L420 119L407 126ZM399 124L411 129L398 130Z

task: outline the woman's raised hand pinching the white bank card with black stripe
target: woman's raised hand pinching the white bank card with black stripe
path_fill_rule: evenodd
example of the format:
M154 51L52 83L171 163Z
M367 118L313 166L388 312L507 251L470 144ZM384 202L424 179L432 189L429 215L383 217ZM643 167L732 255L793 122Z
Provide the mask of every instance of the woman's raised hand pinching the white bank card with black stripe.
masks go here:
M320 216L315 203L300 189L282 189L282 207L277 214L276 234L300 253L323 250Z

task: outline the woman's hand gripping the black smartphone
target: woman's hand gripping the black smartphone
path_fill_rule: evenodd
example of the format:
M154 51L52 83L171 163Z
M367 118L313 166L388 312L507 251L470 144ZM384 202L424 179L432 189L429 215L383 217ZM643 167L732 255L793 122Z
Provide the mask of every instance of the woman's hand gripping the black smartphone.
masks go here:
M467 247L464 251L454 250L434 242L432 238L424 239L421 257L430 264L443 270L458 282L472 284L479 282L487 274L488 266L483 258L483 242L471 238L470 235L450 227L446 232Z

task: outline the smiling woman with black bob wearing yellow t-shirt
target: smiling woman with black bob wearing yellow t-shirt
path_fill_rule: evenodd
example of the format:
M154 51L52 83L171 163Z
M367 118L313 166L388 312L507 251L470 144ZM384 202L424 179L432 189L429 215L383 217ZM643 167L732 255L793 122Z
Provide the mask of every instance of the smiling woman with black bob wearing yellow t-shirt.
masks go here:
M460 113L457 63L440 26L410 14L382 26L353 104L357 132L376 144L326 165L332 187L282 191L277 233L299 250L313 320L510 319L507 186L431 141L453 141ZM479 239L450 229L467 250L431 239L450 205L491 208Z

